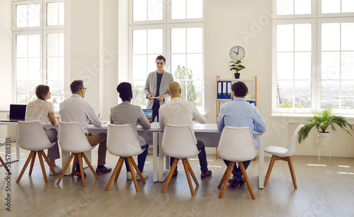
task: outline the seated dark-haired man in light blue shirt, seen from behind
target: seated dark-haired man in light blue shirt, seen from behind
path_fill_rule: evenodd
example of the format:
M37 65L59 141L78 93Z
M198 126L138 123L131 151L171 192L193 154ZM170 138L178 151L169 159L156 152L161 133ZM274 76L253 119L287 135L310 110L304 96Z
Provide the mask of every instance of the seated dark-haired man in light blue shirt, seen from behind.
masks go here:
M220 108L219 118L217 119L217 129L222 131L224 127L249 127L251 131L258 131L260 133L265 132L265 122L263 121L258 109L246 102L244 99L249 88L247 88L244 82L238 81L232 84L231 97L232 101L227 102ZM257 142L254 141L256 146ZM224 160L226 165L229 164L228 160ZM245 170L249 167L251 160L244 161ZM239 167L234 167L232 171L234 175L233 179L229 180L229 184L233 187L242 185L245 183L242 177L242 172Z

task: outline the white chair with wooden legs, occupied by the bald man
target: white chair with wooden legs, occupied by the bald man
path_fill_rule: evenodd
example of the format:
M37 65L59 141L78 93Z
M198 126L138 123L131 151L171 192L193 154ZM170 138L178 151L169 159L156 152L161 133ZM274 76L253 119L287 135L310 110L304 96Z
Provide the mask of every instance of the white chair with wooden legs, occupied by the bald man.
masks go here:
M166 156L175 158L171 166L169 175L167 176L164 189L162 193L166 192L167 186L171 182L173 172L176 170L178 160L182 159L183 168L185 170L185 176L187 177L190 192L194 195L194 189L192 181L190 180L190 175L192 175L193 180L197 186L199 185L197 178L194 175L192 168L187 160L187 158L198 156L198 148L195 144L193 131L188 125L176 126L172 124L166 124L164 129L164 136L162 137L162 151Z

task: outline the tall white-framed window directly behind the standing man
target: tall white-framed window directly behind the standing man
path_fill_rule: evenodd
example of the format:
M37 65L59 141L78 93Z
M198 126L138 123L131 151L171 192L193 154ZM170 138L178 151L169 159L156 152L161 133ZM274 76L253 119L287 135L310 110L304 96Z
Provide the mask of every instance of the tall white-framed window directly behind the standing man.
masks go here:
M130 8L133 103L147 104L145 81L156 71L156 57L163 55L165 71L181 84L181 97L203 110L202 0L131 0Z

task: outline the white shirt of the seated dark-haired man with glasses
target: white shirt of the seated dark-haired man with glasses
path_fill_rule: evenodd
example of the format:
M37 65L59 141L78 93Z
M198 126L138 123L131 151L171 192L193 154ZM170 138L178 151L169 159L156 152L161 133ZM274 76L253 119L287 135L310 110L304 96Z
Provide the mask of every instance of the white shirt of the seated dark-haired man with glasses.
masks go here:
M71 98L60 103L59 114L62 122L78 122L85 134L89 129L89 120L95 127L102 126L93 105L78 94L73 94Z

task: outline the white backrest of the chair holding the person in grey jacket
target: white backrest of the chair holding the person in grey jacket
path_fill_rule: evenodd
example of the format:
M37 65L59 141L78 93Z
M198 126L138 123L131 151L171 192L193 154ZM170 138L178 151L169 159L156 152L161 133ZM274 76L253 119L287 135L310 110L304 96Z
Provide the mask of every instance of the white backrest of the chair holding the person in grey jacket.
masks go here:
M130 124L108 124L107 149L109 153L120 157L137 156L144 151Z

